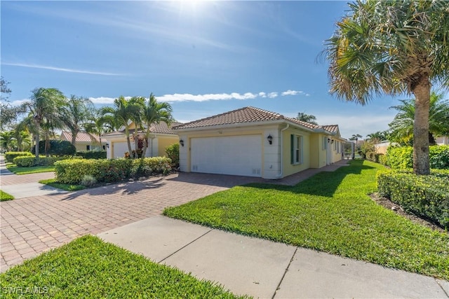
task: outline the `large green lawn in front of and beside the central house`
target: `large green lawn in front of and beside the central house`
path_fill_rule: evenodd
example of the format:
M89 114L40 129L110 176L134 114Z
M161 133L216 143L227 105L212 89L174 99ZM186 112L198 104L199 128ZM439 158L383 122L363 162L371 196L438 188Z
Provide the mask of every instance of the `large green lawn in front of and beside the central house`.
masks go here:
M163 214L449 280L449 235L377 205L382 165L354 160L294 187L249 184Z

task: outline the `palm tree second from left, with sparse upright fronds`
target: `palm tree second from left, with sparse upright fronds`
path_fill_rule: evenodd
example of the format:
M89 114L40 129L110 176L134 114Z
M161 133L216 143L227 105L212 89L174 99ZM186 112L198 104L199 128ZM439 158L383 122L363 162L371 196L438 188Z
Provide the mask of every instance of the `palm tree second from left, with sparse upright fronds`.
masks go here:
M90 99L72 95L61 108L62 123L72 133L72 144L75 145L76 135L83 130L83 124L93 113L93 103Z

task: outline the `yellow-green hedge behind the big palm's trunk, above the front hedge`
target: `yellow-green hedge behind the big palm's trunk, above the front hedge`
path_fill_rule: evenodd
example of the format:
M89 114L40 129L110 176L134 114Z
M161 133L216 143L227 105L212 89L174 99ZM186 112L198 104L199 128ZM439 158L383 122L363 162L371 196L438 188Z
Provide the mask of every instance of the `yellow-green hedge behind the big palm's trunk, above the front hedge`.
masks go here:
M391 147L387 151L387 163L392 169L408 169L413 167L413 147ZM449 146L429 147L430 167L433 169L449 169Z

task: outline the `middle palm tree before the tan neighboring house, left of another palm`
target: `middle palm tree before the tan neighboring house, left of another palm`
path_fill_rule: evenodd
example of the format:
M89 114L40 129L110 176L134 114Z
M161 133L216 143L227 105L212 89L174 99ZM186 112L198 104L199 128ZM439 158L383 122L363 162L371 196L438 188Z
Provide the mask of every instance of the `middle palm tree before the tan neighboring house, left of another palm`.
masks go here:
M125 128L126 142L128 144L128 151L132 153L131 141L130 141L130 122L135 120L136 116L140 115L142 105L131 102L120 96L118 99L114 99L114 107L103 107L102 115L112 116L117 125L121 125Z

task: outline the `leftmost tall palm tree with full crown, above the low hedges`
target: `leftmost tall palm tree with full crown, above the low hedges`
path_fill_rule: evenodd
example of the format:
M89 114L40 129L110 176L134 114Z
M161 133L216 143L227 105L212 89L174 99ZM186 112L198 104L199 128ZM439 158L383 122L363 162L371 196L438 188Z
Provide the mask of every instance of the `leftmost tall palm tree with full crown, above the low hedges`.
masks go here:
M42 127L46 132L46 140L50 130L60 124L58 111L64 104L65 97L56 88L36 88L32 90L30 101L25 103L36 129ZM34 137L36 138L35 153L37 158L39 157L39 134L34 134Z

